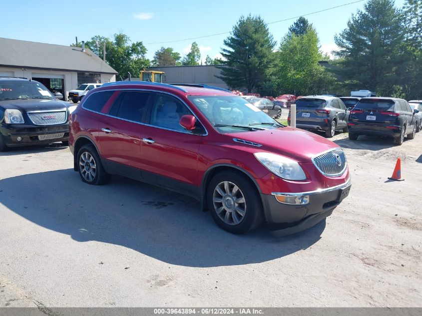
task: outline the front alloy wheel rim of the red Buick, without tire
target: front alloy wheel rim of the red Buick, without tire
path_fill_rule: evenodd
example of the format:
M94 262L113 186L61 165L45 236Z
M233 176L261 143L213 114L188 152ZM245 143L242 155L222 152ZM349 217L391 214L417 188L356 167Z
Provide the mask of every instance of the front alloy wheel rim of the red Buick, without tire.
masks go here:
M245 218L245 197L233 182L220 182L214 189L212 201L216 214L224 223L238 225Z

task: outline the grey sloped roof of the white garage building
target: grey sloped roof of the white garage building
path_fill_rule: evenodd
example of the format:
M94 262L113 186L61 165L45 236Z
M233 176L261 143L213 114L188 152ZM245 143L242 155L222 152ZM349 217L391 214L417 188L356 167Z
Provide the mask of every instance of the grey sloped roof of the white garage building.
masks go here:
M0 66L94 73L117 71L91 50L0 37Z

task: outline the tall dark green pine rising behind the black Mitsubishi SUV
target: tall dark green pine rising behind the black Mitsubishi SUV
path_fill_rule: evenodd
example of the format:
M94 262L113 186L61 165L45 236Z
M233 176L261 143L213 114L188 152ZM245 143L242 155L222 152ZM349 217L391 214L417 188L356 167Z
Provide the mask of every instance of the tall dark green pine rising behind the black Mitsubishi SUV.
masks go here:
M353 14L347 25L335 36L342 72L361 89L391 94L404 39L401 14L394 0L369 0L365 10Z

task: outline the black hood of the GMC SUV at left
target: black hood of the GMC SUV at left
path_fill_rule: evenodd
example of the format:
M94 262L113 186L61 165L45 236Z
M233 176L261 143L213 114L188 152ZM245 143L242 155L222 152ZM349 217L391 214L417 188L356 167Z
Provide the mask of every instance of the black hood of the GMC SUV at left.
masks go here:
M16 109L20 112L65 110L67 108L65 102L54 99L3 100L0 101L0 106L4 109Z

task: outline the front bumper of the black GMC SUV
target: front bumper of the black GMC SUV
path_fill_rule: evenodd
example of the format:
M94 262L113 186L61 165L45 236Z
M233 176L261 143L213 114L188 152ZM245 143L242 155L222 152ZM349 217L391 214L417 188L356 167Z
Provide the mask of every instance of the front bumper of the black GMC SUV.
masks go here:
M21 147L37 144L50 144L69 139L69 123L50 126L26 124L0 124L0 133L7 147ZM63 137L40 140L40 135L63 134ZM17 140L18 137L21 140Z

